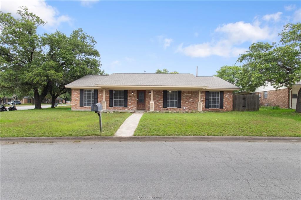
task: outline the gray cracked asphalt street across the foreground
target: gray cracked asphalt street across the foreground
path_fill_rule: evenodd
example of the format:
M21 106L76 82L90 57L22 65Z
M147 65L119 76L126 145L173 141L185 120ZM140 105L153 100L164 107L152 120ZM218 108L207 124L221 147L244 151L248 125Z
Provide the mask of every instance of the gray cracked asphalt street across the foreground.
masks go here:
M301 199L298 142L1 144L1 199Z

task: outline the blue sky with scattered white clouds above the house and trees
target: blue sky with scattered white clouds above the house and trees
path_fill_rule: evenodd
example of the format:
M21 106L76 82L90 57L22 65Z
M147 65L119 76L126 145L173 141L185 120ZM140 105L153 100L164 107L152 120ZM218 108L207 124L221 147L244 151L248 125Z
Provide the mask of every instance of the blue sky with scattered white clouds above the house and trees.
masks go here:
M278 41L286 23L300 22L299 1L2 1L15 13L26 5L69 35L82 28L97 41L107 73L167 68L211 76L236 63L252 42Z

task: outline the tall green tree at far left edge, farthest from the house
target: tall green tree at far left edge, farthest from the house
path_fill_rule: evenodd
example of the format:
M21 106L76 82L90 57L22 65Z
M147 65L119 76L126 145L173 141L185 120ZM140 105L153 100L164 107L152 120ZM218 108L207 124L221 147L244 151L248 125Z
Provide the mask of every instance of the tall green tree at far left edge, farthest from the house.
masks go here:
M30 13L26 7L17 11L20 18L10 13L0 12L1 23L1 70L5 71L11 83L26 90L33 89L35 108L41 108L41 102L49 91L51 67L45 66L42 53L41 36L37 27L45 24L38 16Z

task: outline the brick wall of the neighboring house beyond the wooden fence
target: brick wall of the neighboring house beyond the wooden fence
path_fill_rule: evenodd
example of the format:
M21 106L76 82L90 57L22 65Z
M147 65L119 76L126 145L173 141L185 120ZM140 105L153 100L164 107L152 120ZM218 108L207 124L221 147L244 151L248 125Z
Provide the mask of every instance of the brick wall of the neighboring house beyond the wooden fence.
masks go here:
M263 92L255 92L260 94L259 105L279 106L280 108L289 108L290 89L269 90L268 98L263 98Z

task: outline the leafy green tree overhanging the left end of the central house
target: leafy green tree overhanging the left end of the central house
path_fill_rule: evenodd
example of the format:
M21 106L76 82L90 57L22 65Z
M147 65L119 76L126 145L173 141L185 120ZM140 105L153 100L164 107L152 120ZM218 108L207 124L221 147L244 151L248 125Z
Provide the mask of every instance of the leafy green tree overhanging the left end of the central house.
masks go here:
M82 29L74 30L69 37L59 31L45 34L43 46L47 49L45 64L57 73L51 80L49 93L51 108L55 99L68 91L64 86L87 74L103 74L100 71L100 54L95 49L96 41Z

